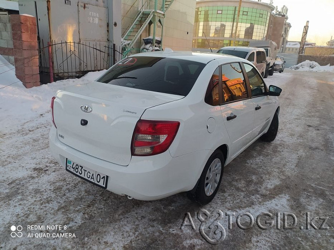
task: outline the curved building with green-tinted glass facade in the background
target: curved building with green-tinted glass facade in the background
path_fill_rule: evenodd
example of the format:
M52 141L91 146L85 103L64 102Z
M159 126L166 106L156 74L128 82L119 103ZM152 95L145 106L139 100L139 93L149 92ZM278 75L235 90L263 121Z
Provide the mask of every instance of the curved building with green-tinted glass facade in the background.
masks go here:
M213 50L225 46L248 46L265 40L273 5L242 0L197 0L192 47Z

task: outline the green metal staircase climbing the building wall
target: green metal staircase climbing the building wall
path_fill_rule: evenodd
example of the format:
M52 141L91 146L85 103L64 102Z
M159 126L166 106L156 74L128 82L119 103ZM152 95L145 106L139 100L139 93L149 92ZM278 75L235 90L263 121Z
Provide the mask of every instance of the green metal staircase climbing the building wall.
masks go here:
M137 6L138 2L139 0L136 0L132 7ZM122 37L123 41L127 41L123 45L124 57L127 56L129 50L134 46L153 18L165 17L165 13L173 3L173 0L146 0L144 3L143 2L142 0L142 7L138 10L133 23L127 28Z

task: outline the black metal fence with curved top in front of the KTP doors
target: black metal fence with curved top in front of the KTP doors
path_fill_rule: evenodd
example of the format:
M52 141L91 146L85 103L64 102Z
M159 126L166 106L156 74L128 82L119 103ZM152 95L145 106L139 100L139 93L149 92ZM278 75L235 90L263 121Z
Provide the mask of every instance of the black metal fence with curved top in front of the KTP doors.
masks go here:
M108 69L122 59L122 48L111 42L49 42L39 53L41 81L80 78L90 71ZM48 81L48 80L46 80Z

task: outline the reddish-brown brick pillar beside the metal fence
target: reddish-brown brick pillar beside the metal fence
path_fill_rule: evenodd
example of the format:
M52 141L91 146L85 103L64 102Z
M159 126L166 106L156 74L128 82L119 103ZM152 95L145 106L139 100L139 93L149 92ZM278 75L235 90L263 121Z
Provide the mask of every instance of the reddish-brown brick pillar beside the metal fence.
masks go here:
M10 15L16 77L26 88L40 86L36 18Z

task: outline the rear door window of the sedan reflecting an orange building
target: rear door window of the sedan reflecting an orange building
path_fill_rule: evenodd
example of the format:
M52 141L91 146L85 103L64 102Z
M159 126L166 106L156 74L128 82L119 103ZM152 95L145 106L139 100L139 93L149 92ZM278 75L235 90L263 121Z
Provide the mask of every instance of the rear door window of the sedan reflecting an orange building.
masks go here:
M247 87L239 63L221 65L223 102L247 98Z

